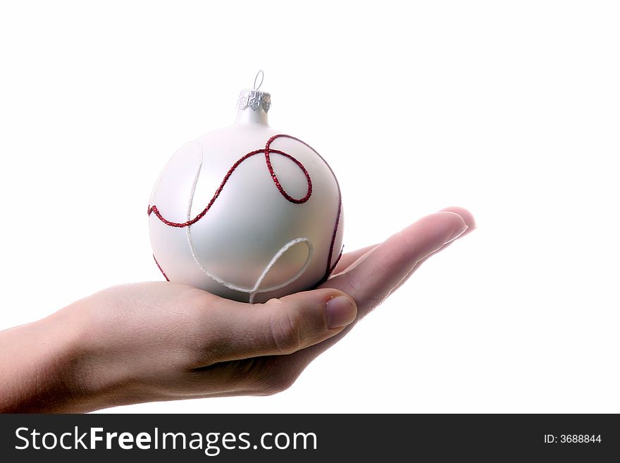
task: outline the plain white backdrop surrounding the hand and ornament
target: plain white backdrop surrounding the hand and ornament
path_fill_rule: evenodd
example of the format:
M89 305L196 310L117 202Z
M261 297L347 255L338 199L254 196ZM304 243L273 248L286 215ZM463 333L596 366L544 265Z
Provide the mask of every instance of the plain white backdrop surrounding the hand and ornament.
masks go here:
M615 2L0 6L0 328L161 280L147 202L265 70L334 168L346 249L478 230L272 397L109 412L620 412ZM148 323L147 320L144 323Z

